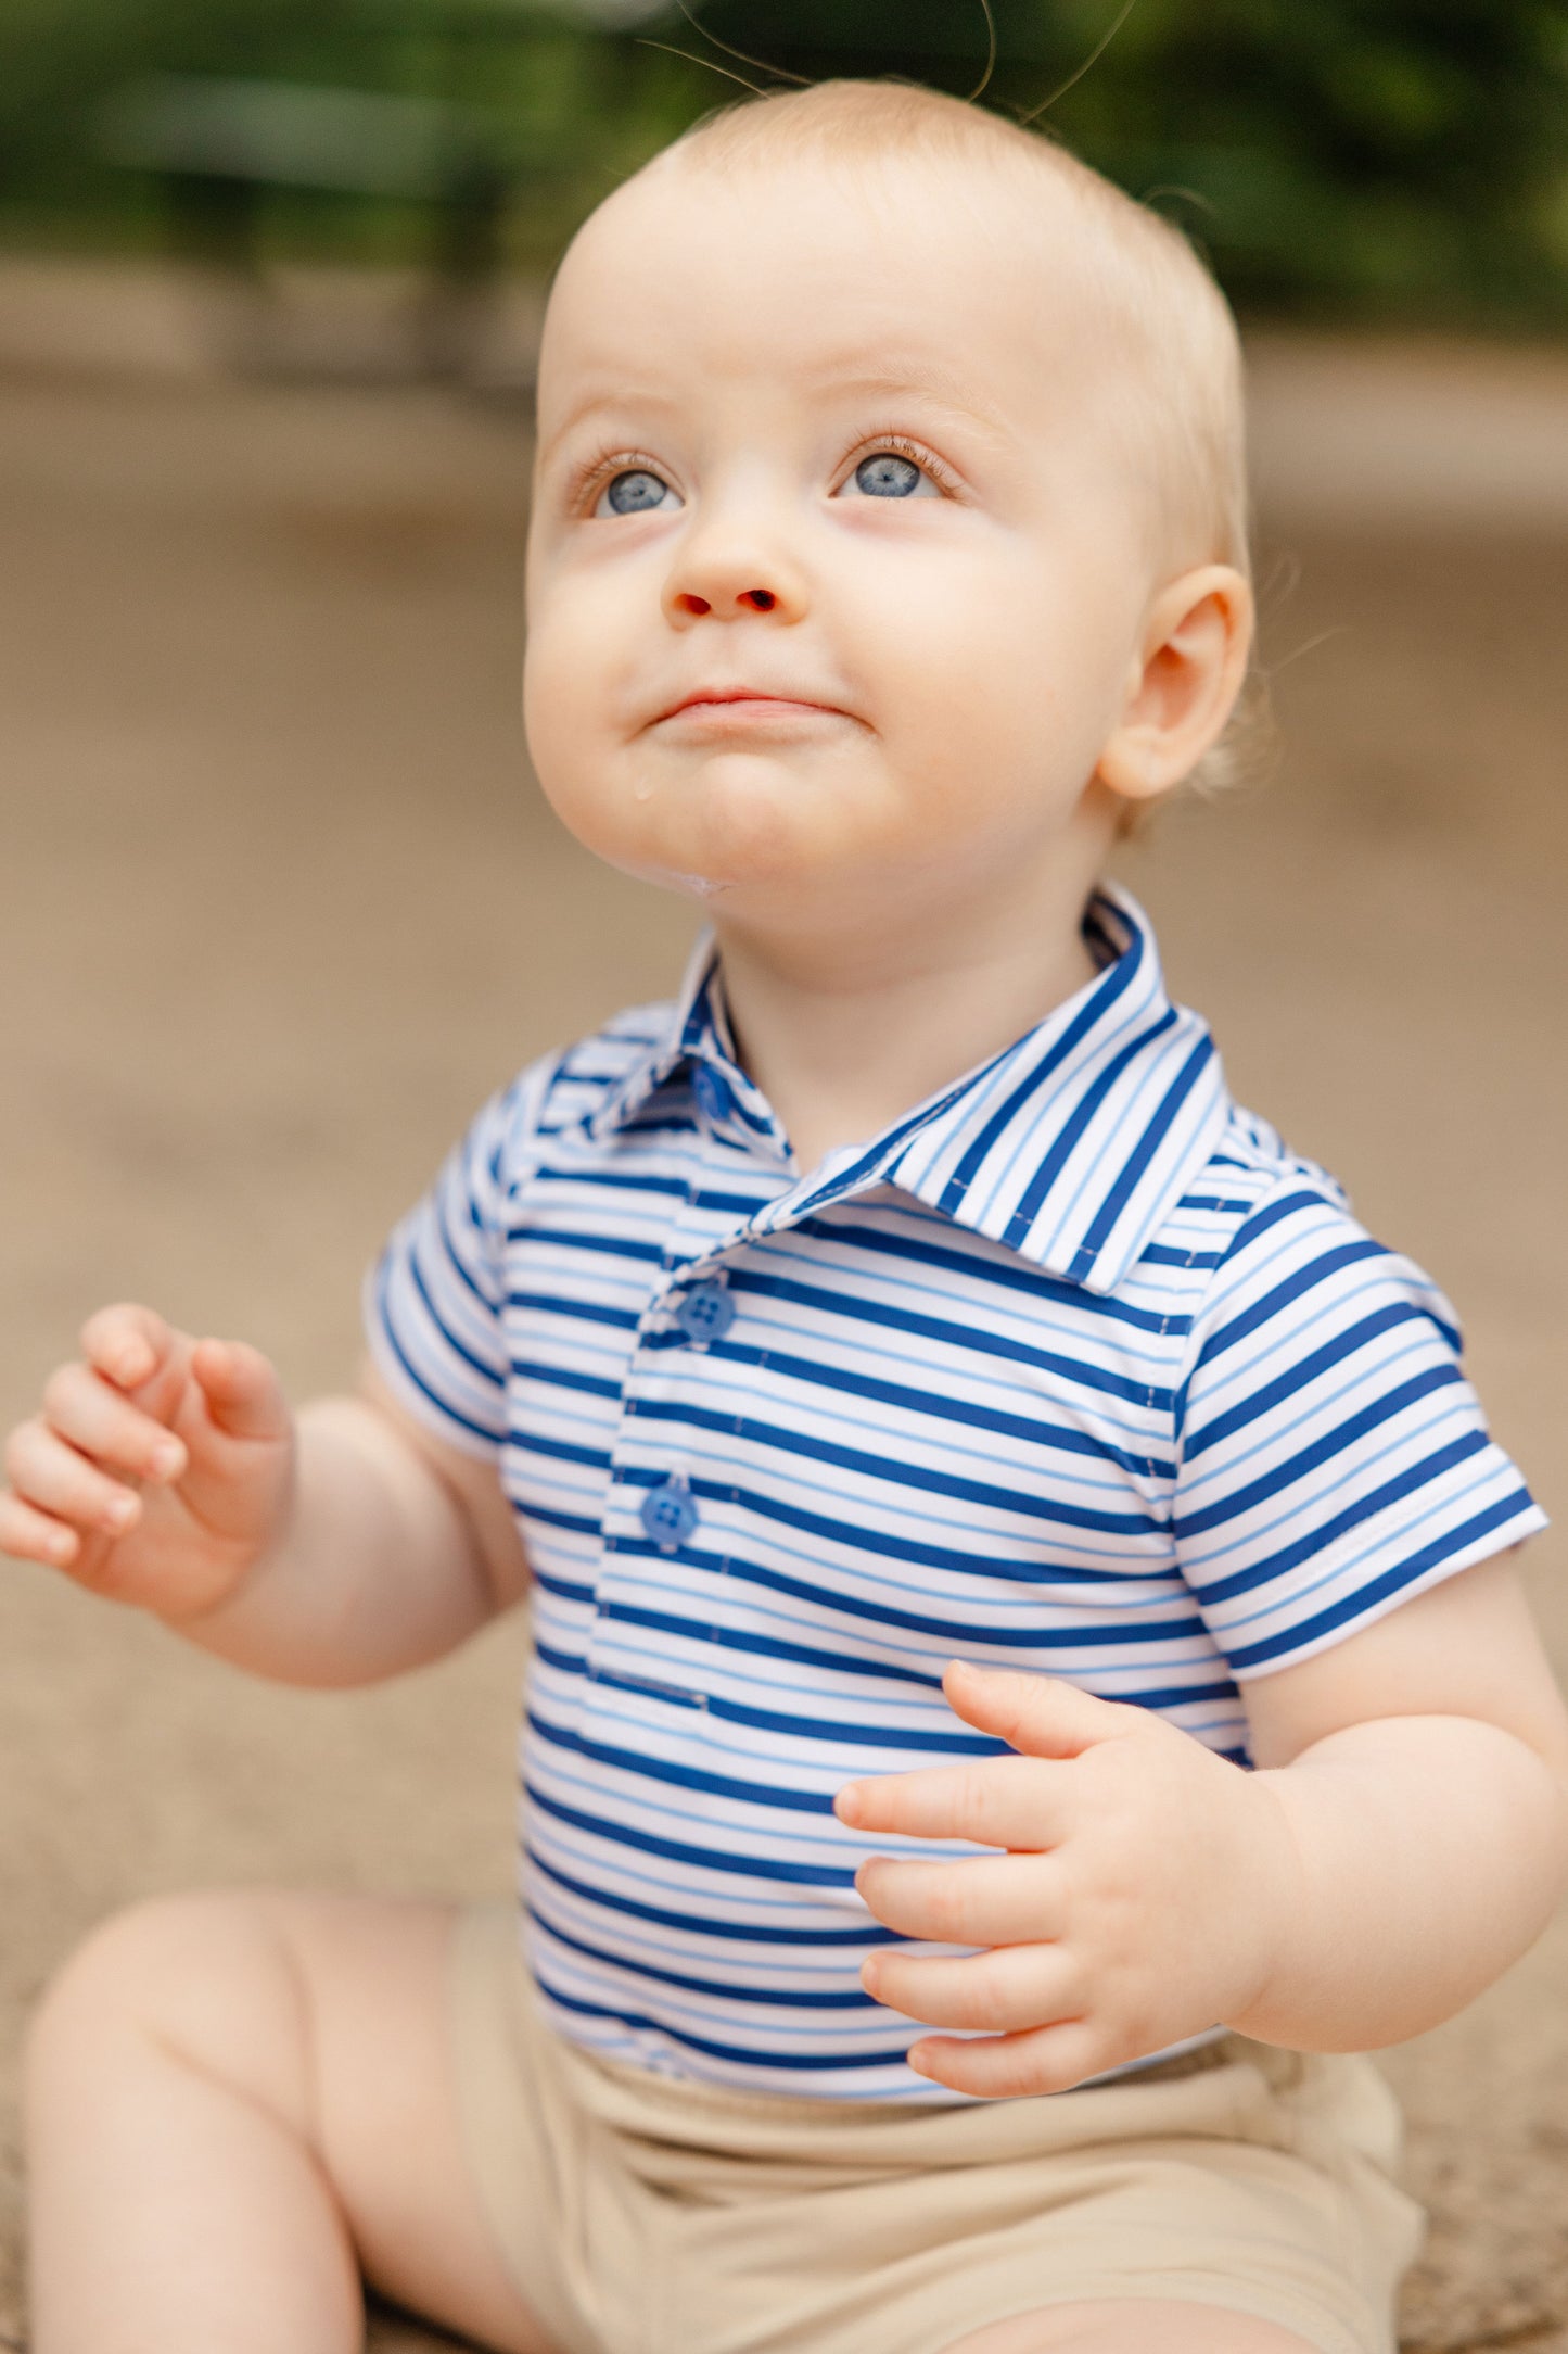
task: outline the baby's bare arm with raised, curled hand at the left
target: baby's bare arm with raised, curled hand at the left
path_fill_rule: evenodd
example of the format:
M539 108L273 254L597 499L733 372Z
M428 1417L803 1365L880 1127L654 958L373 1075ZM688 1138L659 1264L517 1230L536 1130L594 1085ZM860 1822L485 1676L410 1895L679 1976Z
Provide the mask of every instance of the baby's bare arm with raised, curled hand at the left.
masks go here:
M0 1551L284 1683L374 1683L524 1591L496 1469L367 1375L299 1422L259 1351L118 1306L7 1443Z

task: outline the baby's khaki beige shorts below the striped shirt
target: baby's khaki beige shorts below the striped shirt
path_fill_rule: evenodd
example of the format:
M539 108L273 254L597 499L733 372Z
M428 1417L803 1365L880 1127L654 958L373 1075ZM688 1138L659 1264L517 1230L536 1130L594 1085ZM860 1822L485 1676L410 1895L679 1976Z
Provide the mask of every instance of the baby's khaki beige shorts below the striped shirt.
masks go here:
M473 2173L562 2354L940 2354L1081 2298L1394 2349L1420 2210L1366 2060L1227 2036L1046 2100L752 2097L564 2043L510 1907L465 1914L454 2003Z

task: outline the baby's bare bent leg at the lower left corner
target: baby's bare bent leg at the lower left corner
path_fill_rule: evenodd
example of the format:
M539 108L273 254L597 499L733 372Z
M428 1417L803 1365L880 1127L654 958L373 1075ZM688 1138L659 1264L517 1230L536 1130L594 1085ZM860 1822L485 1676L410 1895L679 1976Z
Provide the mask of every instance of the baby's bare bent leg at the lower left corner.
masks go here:
M256 1890L87 1940L28 2041L35 2354L360 2354L360 2276L550 2354L458 2144L454 1919Z

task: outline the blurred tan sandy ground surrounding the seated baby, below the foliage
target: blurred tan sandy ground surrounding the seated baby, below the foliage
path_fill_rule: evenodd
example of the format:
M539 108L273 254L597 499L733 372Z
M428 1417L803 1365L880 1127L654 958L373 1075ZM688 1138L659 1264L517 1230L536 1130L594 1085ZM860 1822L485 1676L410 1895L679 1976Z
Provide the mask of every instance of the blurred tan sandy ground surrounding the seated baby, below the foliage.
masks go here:
M1533 431L1493 363L1382 353L1373 398L1356 355L1262 358L1286 753L1126 873L1237 1090L1441 1274L1561 1516L1568 506L1474 490L1465 450ZM1561 365L1523 377L1530 417L1563 398ZM0 1422L118 1295L341 1382L357 1271L477 1099L670 986L686 913L527 777L524 454L517 407L411 388L0 367ZM1561 1570L1554 1535L1530 1580L1568 1662ZM0 2342L47 1970L148 1890L505 1886L517 1660L501 1627L378 1693L282 1693L5 1568ZM1389 2055L1434 2206L1410 2349L1568 2349L1566 1963L1559 1921ZM374 2345L435 2340L381 2316Z

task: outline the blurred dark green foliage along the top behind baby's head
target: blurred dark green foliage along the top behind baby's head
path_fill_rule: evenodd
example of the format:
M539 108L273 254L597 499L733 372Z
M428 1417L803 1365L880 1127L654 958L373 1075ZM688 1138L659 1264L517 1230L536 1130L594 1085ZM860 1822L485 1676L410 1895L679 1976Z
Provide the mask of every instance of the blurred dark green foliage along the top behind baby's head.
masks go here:
M987 54L983 0L691 7L701 31L658 0L5 0L0 233L158 233L155 191L101 139L110 97L158 71L470 108L515 188L512 259L541 264L621 172L741 94L729 73L969 92ZM1568 0L1135 0L1079 75L1119 7L994 0L987 104L1053 99L1041 120L1171 210L1246 308L1568 327ZM292 198L275 235L395 257L418 221Z

